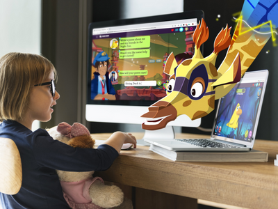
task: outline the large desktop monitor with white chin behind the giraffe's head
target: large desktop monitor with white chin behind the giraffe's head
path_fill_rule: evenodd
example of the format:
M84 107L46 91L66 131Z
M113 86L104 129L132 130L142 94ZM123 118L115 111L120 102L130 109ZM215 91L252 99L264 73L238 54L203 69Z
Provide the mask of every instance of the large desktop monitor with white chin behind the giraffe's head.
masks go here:
M202 10L127 20L92 22L88 31L87 121L142 124L142 114L163 98L167 56L177 62L194 54L193 33ZM107 71L107 72L106 72ZM108 87L108 88L107 88ZM198 127L186 115L144 138L174 138L172 126Z

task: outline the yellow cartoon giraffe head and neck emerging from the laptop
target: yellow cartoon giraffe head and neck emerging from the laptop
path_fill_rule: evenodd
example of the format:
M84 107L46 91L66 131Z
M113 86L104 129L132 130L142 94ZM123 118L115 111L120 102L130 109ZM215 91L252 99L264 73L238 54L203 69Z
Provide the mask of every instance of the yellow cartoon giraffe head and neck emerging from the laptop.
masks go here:
M186 59L178 65L174 54L170 54L164 69L164 72L170 75L167 95L152 104L149 111L141 116L151 118L142 124L143 129L161 129L181 114L186 114L191 120L206 116L213 111L214 101L229 93L231 88L240 81L271 36L269 33L259 33L252 29L261 21L262 18L258 19L258 17L263 15L255 9L253 13L250 13L250 7L248 7L250 1L246 2L242 11L245 22L238 21L232 39L229 35L230 29L227 27L222 29L215 38L214 51L211 55L204 58L199 49L202 43L208 39L208 28L204 20L198 24L193 34L195 42L193 58ZM256 6L261 6L262 2L266 1L259 1ZM268 13L275 12L273 8L278 10L278 8L272 7ZM271 16L275 17L275 22L278 20L277 16ZM263 31L261 28L260 30ZM216 57L227 47L229 47L227 56L217 70L215 68Z

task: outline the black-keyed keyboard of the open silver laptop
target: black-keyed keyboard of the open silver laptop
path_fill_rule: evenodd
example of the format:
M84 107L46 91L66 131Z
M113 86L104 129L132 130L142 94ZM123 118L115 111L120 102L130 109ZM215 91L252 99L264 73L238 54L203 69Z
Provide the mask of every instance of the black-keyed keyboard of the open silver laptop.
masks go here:
M176 139L177 141L186 142L200 147L212 147L212 148L240 148L231 144L219 143L207 139Z

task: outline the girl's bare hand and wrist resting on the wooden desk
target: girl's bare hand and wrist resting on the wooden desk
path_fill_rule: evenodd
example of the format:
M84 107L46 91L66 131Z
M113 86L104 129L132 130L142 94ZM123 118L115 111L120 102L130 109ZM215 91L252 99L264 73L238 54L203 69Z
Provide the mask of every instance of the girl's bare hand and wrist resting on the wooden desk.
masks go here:
M114 132L109 139L107 139L103 144L108 144L120 153L123 144L131 143L133 147L136 148L136 138L132 134L127 134L124 132Z

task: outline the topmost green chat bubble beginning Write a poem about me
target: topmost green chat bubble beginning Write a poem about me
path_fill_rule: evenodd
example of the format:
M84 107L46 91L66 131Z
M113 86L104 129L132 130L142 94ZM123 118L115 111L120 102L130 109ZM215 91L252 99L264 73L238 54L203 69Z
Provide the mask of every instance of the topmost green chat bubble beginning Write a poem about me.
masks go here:
M150 36L129 37L120 39L120 49L149 48L150 44Z

